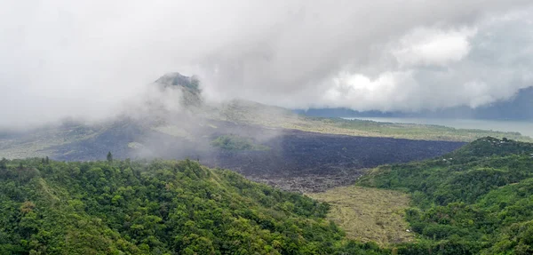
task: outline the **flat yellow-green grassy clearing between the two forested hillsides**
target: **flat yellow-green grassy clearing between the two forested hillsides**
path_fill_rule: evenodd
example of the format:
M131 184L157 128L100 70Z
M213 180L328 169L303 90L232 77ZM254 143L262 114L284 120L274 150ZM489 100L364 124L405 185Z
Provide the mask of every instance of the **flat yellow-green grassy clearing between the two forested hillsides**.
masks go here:
M385 247L415 239L412 233L406 231L409 223L405 221L404 214L410 198L404 193L350 186L307 195L330 203L328 219L342 227L348 238L372 241Z

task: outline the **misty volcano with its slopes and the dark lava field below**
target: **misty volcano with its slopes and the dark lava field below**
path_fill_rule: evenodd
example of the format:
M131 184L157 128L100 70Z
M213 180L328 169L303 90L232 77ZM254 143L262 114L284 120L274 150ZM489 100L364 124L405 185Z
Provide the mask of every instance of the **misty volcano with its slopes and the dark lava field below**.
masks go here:
M0 132L0 157L87 161L104 159L107 152L121 159L188 157L276 187L315 192L350 184L364 169L379 164L448 153L464 140L487 133L308 118L243 100L210 105L202 98L199 81L178 73L151 85L163 95L176 95L179 109L150 98L135 116L124 113L99 124L70 121ZM489 133L528 139L516 133Z

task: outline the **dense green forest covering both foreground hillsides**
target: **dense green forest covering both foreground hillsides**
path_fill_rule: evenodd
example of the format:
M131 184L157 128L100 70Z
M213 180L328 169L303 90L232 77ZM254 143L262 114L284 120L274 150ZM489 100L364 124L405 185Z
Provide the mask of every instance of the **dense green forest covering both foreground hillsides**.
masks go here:
M410 195L410 243L346 238L329 204L191 160L0 161L0 254L533 254L533 144L478 139L356 183Z

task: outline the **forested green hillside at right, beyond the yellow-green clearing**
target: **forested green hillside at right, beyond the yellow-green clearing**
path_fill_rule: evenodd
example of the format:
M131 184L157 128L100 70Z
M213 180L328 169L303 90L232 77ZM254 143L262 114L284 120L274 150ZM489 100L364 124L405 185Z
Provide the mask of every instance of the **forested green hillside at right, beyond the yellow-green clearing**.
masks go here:
M438 159L379 167L358 184L410 193L420 241L401 254L533 254L533 144L478 139Z

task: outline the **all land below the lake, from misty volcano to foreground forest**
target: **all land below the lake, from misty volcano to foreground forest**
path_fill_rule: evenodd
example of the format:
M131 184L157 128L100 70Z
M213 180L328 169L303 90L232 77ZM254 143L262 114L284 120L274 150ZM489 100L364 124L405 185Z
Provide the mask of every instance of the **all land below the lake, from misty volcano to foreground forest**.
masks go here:
M157 81L185 90L178 111L150 102L136 116L2 131L0 251L533 251L533 218L517 212L530 209L533 156L521 133L214 106L178 75Z

